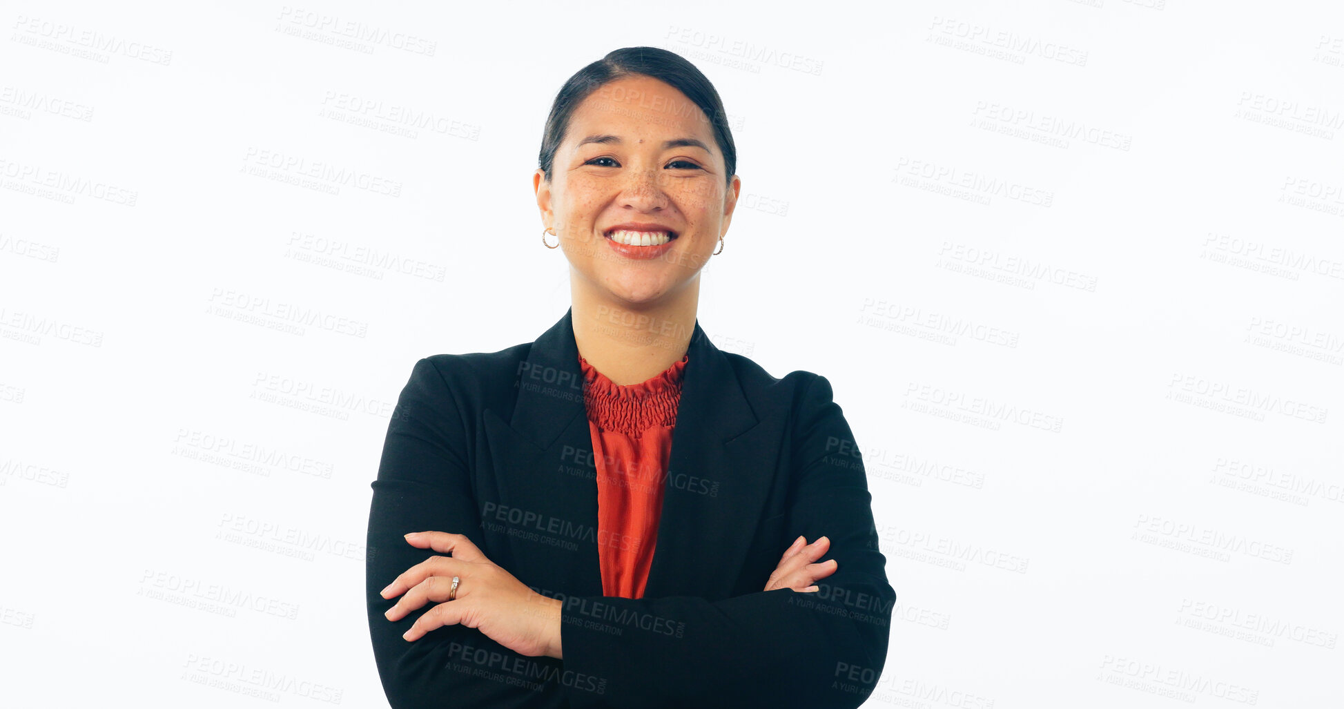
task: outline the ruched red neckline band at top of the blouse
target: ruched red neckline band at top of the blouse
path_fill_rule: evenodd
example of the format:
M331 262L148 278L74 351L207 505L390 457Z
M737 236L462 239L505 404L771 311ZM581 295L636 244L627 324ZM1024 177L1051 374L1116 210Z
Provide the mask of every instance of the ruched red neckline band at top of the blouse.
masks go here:
M602 431L638 437L652 426L676 424L681 382L689 355L638 383L618 385L579 357L583 373L583 406L589 421Z

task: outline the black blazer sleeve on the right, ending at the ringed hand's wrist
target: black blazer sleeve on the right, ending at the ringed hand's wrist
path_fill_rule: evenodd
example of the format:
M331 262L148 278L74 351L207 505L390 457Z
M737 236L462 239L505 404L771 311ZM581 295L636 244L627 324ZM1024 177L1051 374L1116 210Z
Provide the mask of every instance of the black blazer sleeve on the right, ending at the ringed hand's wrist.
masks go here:
M813 375L797 405L790 451L788 534L825 534L833 574L820 591L774 589L719 601L570 597L562 609L564 667L605 681L605 692L566 687L571 706L853 708L876 686L887 657L895 591L878 550L867 476L853 435ZM712 550L707 550L712 553ZM761 579L761 588L766 579ZM594 605L602 604L602 605ZM652 616L681 634L603 632L590 615Z

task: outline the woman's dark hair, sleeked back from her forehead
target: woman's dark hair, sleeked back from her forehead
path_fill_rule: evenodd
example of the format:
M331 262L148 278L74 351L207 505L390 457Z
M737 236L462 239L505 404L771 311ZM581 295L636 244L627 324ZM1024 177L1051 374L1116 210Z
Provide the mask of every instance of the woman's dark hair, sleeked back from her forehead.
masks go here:
M728 130L727 114L723 112L719 91L714 90L714 85L695 65L680 54L659 47L614 50L578 70L564 82L564 86L560 86L560 91L555 94L555 102L551 104L551 114L546 118L542 152L538 156L538 167L542 168L547 182L551 179L555 151L564 140L574 109L603 85L633 75L653 77L669 83L685 94L692 104L700 106L700 110L714 125L714 140L719 144L719 152L723 153L723 164L727 168L726 182L731 182L738 170L738 148L732 144L732 132Z

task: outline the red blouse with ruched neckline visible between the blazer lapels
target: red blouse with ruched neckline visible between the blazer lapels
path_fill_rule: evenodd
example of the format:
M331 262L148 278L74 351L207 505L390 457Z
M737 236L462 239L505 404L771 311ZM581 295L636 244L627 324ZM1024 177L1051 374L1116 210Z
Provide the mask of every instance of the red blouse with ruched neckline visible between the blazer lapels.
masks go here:
M632 385L607 379L579 357L583 405L597 463L597 539L603 596L644 597L688 357Z

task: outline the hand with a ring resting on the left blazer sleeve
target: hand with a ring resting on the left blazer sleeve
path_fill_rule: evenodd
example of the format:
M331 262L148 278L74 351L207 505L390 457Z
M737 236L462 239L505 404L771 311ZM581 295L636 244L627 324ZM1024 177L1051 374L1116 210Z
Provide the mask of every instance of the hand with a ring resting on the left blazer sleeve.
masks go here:
M388 620L401 620L411 611L434 601L403 638L417 640L426 632L454 623L478 628L489 639L526 657L560 657L559 599L548 599L513 577L462 534L414 531L407 544L418 549L452 553L433 556L398 576L382 591L384 599L406 593L387 611ZM457 597L448 600L453 577L458 577Z

